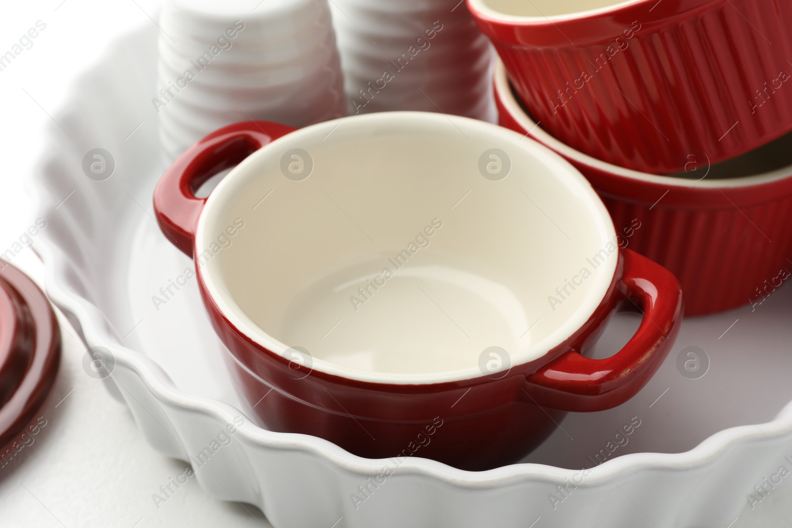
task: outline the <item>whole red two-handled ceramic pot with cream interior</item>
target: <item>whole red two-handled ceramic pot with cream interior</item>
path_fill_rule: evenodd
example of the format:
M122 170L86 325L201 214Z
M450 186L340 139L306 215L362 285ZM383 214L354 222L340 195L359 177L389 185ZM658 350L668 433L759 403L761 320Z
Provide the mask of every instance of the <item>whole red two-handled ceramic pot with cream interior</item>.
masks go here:
M564 412L638 392L682 315L676 278L619 248L572 165L463 117L231 125L176 161L154 208L251 412L364 457L516 462ZM584 357L620 307L645 313L638 332Z

